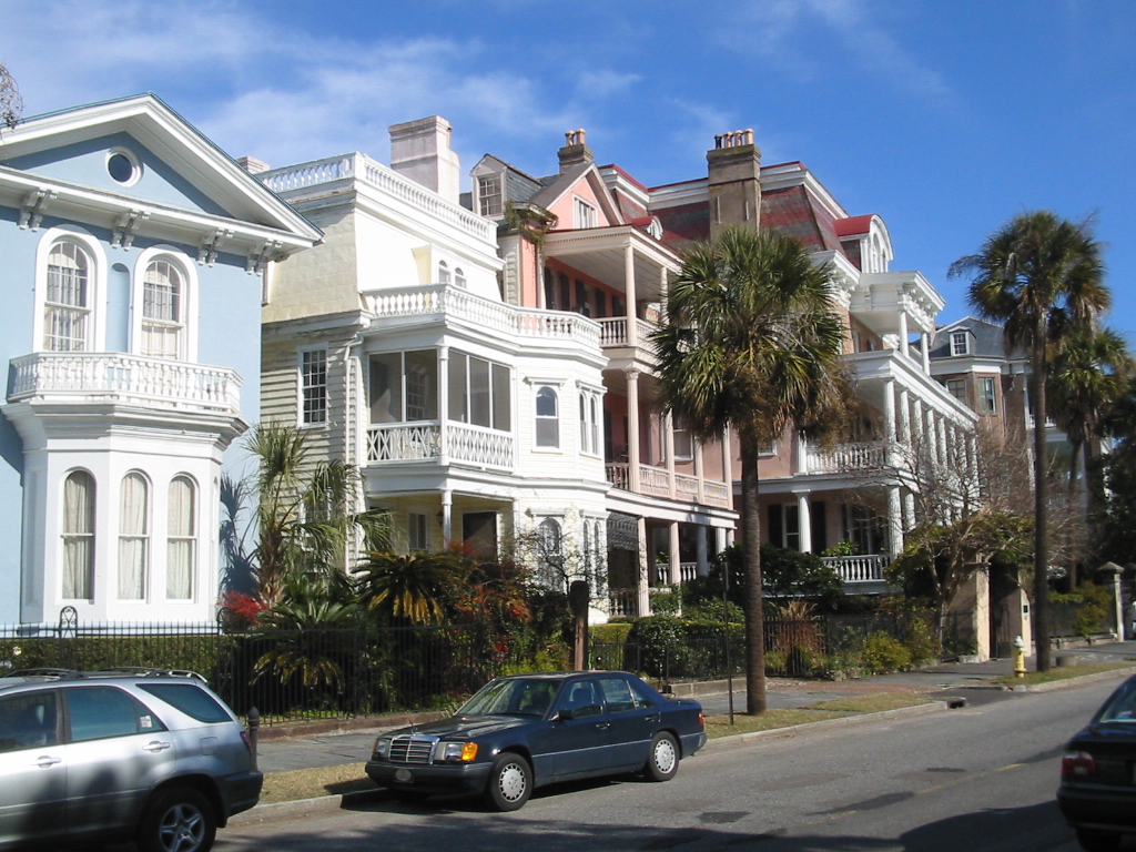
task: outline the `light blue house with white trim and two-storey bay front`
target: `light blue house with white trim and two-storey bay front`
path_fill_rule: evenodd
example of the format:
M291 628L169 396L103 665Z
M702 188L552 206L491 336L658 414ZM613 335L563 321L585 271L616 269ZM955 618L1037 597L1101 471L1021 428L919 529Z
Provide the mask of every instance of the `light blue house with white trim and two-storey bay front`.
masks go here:
M214 618L266 270L319 239L151 94L0 133L0 623Z

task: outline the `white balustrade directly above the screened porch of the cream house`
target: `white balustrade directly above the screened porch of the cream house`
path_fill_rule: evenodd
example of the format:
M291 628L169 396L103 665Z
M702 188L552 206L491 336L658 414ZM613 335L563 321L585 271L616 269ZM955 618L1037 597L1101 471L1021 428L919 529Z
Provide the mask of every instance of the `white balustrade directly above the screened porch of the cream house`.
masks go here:
M599 327L579 314L515 308L452 284L368 290L361 298L364 310L376 319L441 314L509 337L573 341L583 346L600 345Z

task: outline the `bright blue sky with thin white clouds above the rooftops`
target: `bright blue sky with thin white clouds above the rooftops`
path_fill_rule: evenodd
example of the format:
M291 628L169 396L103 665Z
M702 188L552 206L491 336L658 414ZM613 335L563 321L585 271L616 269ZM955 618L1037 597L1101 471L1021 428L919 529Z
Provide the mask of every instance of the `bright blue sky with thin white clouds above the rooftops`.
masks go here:
M968 312L947 266L1009 217L1095 216L1136 344L1133 45L1130 0L0 0L26 115L153 91L274 166L389 161L386 127L436 112L467 172L491 151L549 174L585 127L657 185L752 127L766 164L884 218L941 321Z

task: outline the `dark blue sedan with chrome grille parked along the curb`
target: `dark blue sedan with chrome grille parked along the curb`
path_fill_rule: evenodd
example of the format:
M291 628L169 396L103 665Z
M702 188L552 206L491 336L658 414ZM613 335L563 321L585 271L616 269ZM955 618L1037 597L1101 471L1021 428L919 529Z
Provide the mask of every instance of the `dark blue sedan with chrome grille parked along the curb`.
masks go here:
M449 719L383 734L367 775L402 800L479 793L513 811L554 782L669 780L705 741L699 702L670 700L626 671L518 675L482 687Z

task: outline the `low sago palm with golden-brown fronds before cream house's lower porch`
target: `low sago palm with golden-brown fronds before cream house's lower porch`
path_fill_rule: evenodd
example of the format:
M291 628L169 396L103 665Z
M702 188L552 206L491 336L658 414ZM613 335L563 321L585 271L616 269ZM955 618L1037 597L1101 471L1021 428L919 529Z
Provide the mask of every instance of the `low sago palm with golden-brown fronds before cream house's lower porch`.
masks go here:
M427 624L445 620L448 595L465 567L452 553L371 551L356 576L360 599L368 608L389 619Z

